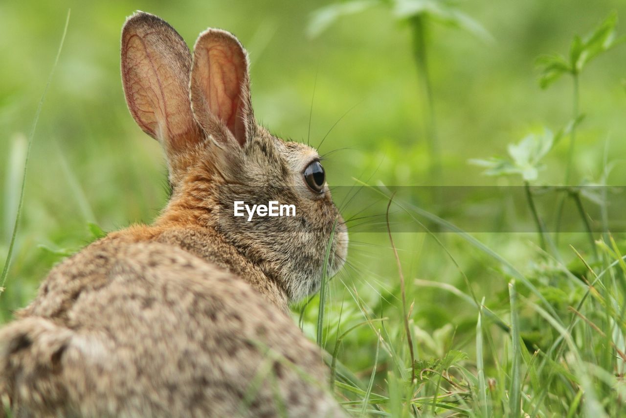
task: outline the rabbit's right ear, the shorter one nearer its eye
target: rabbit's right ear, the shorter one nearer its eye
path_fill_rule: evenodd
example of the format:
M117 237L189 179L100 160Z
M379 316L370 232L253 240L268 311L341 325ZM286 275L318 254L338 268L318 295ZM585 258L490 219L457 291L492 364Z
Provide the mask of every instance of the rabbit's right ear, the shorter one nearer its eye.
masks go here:
M244 146L255 122L250 102L248 58L232 34L207 29L193 48L190 81L193 115L218 142Z

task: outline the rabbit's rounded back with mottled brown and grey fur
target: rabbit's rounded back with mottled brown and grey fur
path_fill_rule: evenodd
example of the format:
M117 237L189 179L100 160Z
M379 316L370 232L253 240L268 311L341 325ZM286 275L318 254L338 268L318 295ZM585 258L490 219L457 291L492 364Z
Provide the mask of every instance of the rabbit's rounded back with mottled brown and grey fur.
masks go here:
M341 413L290 318L180 248L92 244L19 316L0 332L0 392L18 415Z

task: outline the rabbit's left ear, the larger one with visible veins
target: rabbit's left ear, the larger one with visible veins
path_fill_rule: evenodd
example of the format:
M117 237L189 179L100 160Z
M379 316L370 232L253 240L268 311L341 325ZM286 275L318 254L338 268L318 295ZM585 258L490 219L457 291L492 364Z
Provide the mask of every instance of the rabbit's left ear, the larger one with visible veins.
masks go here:
M189 98L191 64L187 44L167 22L143 12L126 21L121 33L126 103L141 129L161 142L170 165L177 165L173 155L203 140Z

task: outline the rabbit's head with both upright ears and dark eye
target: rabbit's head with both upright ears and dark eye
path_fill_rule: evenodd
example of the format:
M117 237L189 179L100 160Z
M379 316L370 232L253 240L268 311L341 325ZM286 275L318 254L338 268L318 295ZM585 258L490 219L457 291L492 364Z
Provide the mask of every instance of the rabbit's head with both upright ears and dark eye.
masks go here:
M193 57L151 14L133 15L122 32L128 108L168 162L173 193L158 223L214 229L300 300L319 288L326 259L329 276L343 265L346 226L316 150L255 121L248 66L237 38L219 29L200 34Z

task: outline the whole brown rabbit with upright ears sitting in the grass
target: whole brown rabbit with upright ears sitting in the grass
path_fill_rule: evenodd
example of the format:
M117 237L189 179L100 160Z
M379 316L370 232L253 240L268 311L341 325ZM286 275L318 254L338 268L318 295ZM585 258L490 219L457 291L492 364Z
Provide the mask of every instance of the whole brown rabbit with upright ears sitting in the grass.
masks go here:
M321 350L288 315L347 254L316 150L255 122L247 52L226 31L201 33L192 56L137 12L121 76L132 117L165 151L172 196L150 226L54 267L0 330L11 414L345 415ZM294 204L295 216L237 217L234 201Z

